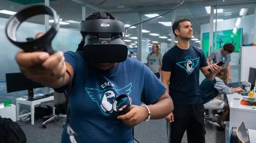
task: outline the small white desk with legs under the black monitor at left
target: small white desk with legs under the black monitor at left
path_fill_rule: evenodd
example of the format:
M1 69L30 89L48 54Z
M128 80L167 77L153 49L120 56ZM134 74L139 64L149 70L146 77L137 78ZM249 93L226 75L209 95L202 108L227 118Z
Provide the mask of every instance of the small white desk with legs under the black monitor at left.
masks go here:
M43 98L43 99L38 99L38 100L34 100L34 101L27 101L27 98L17 98L16 99L16 118L17 120L19 120L20 116L19 111L19 104L25 104L25 105L29 105L30 106L30 111L31 111L31 124L34 124L34 118L35 118L35 105L41 104L43 102L47 102L47 101L52 101L54 100L54 96L49 96L47 98Z

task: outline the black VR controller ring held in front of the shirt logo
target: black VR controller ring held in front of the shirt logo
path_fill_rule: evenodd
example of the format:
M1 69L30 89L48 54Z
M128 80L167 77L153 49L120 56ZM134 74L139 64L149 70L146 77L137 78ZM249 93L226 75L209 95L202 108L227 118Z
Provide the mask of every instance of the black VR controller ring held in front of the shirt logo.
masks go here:
M119 111L117 109L117 103L120 102L121 99L123 99L123 98L128 98L128 103L125 106L125 108L123 108L123 110ZM112 105L112 108L113 108L113 111L116 112L118 115L124 115L127 112L129 112L131 104L132 104L132 99L128 95L122 94L122 95L117 96L117 98L115 99L115 101L114 101L114 103Z

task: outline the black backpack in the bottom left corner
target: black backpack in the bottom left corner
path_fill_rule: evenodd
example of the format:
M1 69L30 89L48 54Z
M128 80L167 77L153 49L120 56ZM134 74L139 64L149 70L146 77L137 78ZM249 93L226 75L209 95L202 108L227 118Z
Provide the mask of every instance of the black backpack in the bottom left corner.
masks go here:
M26 143L26 135L18 123L0 117L0 143Z

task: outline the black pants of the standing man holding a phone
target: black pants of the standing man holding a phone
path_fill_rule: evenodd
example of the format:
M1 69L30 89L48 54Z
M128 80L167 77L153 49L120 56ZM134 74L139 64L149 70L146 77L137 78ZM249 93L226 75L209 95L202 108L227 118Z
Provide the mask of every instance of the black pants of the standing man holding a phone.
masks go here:
M188 143L205 143L203 104L175 106L173 116L174 122L167 123L169 143L181 143L185 130Z

